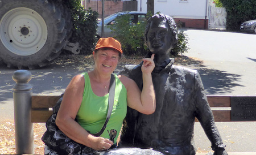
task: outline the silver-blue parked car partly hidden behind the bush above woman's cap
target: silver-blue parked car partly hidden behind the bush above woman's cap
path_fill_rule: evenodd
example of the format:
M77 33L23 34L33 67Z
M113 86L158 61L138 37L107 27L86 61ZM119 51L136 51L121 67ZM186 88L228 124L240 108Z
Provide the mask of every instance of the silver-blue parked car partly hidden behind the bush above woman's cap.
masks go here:
M118 12L115 14L112 14L104 19L104 37L113 37L114 33L112 30L109 28L109 25L115 23L115 18L119 15L125 15L125 14L130 14L131 15L131 23L138 23L138 21L146 21L146 13L144 12L137 12L137 11L129 11L129 12ZM97 28L97 36L98 38L102 37L101 33L101 25L102 25L102 20L98 21L98 28Z

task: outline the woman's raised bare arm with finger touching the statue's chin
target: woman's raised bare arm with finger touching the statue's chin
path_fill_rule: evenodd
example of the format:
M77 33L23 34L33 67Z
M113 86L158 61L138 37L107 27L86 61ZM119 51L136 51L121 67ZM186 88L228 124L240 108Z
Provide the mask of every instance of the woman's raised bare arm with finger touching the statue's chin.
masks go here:
M155 112L155 90L151 76L151 72L155 67L153 59L154 54L152 54L151 58L143 59L142 91L139 90L134 80L123 75L119 76L127 89L127 105L143 114L152 114Z

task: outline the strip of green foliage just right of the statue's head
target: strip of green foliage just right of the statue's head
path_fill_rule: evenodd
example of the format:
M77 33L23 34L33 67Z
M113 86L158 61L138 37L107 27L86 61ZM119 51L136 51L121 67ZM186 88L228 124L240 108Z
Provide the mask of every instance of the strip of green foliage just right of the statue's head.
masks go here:
M184 31L178 31L178 42L174 49L171 50L170 55L181 55L189 50L188 48L188 36L184 33Z

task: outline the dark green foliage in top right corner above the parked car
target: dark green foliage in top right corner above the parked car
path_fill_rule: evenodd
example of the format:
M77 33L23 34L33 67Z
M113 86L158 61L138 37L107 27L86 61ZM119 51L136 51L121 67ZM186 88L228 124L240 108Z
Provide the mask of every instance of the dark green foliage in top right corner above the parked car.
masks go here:
M220 0L226 8L226 29L238 31L243 21L256 19L255 0Z

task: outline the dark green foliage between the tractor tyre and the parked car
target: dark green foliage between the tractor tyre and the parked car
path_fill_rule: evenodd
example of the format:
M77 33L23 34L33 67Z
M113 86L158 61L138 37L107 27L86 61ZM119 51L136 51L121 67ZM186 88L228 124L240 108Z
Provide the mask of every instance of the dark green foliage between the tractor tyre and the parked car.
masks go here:
M79 42L82 46L81 54L92 54L97 42L98 12L84 10L80 0L65 0L63 3L69 8L73 20L73 32L69 41Z

